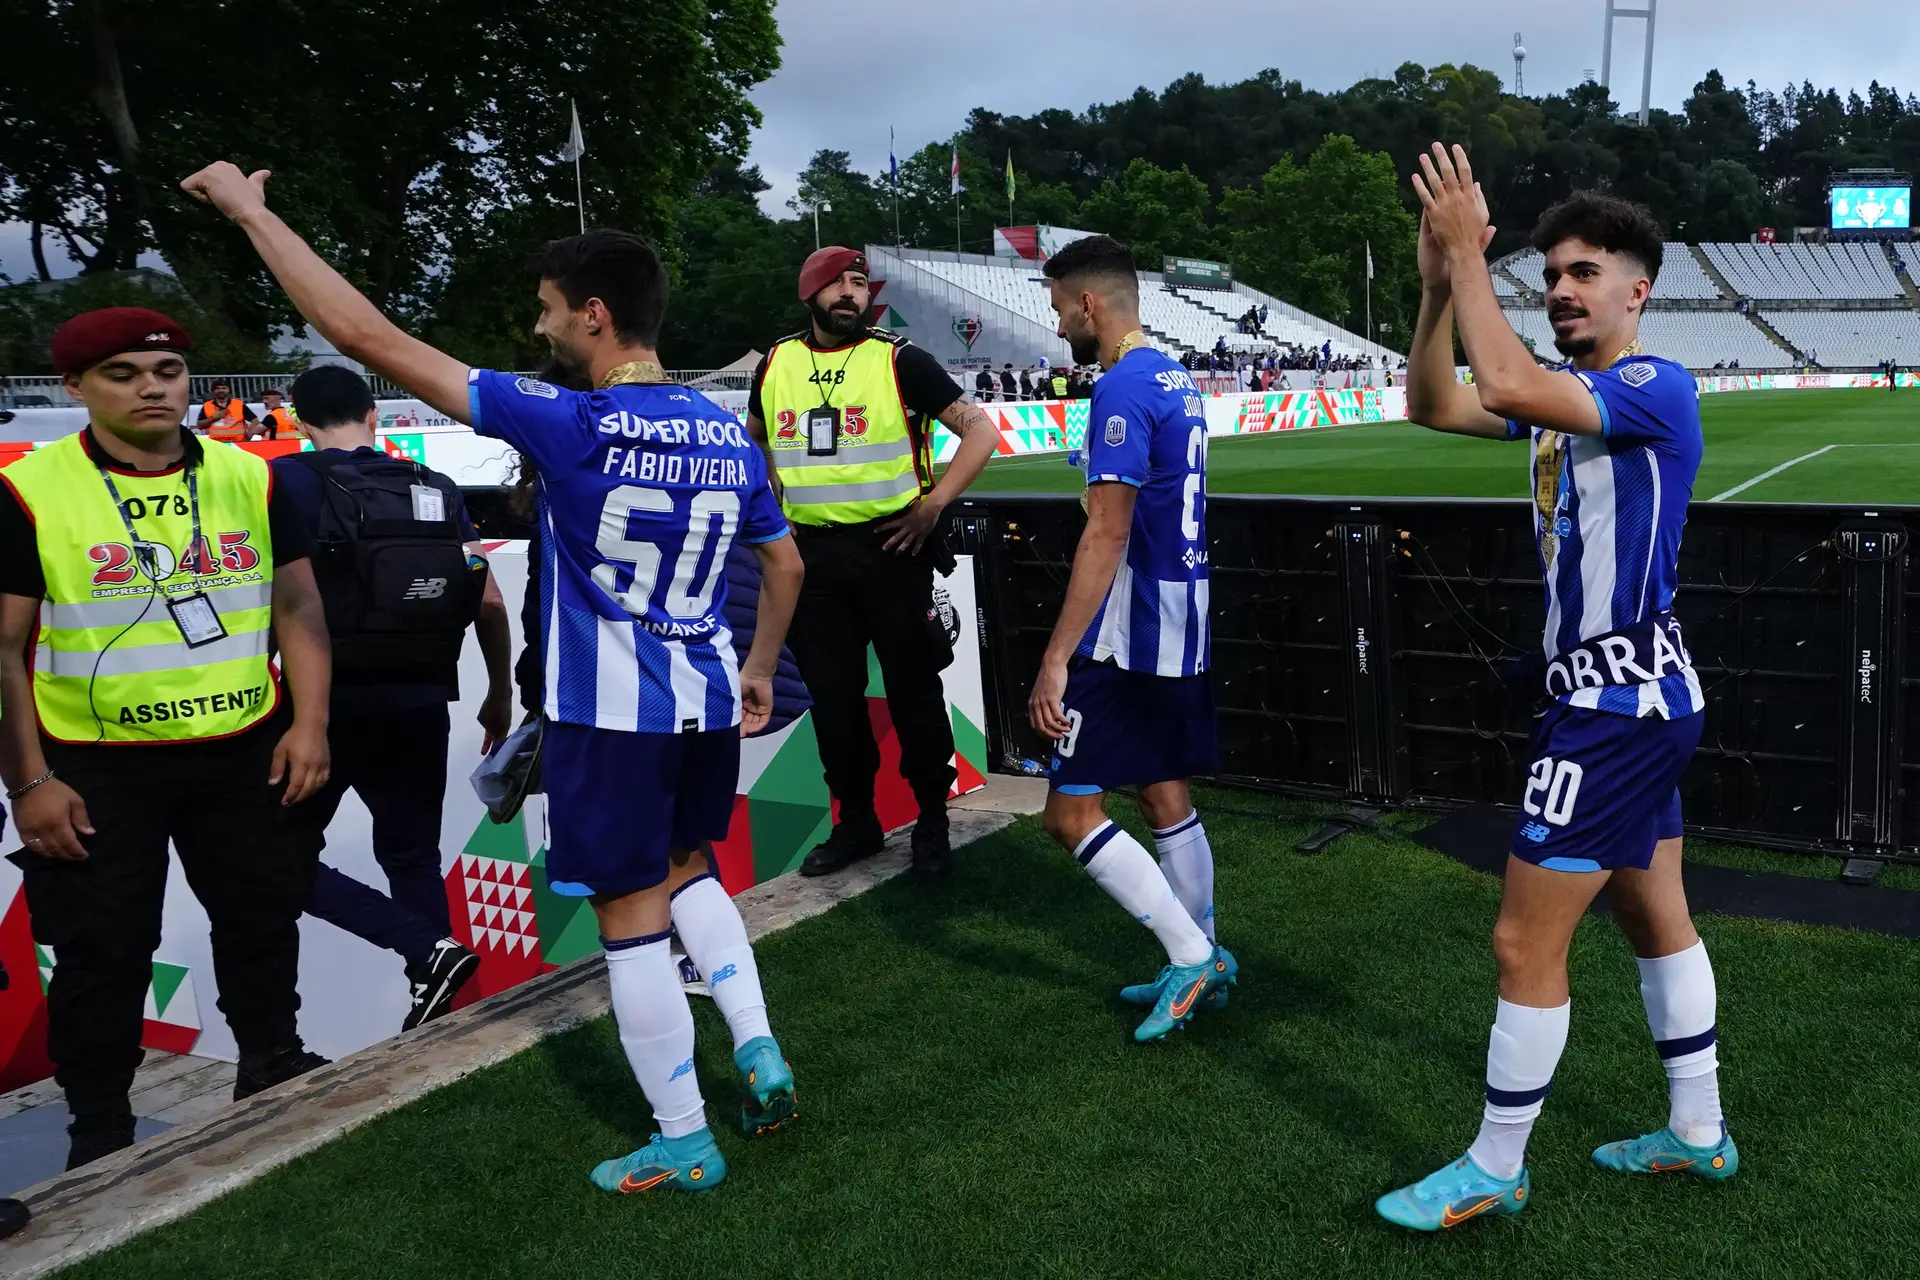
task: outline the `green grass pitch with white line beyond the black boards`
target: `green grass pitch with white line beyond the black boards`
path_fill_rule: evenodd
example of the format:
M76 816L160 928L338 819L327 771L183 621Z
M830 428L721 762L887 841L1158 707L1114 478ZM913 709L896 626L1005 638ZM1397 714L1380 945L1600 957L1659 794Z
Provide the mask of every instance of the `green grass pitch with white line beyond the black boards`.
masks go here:
M1782 464L1726 501L1920 501L1920 393L1726 391L1699 403L1707 457L1693 501L1728 495ZM973 489L1073 493L1079 486L1064 455L1044 455L1000 459ZM1526 451L1405 422L1221 438L1208 449L1208 491L1524 497Z

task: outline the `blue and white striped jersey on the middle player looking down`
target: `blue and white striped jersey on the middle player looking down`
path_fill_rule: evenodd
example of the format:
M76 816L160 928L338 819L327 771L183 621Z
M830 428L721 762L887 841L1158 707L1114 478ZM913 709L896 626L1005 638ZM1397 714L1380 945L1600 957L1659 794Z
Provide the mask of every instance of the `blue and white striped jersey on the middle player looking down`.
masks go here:
M1206 413L1179 361L1135 347L1092 384L1087 484L1139 489L1127 557L1077 652L1129 672L1198 676L1208 633Z

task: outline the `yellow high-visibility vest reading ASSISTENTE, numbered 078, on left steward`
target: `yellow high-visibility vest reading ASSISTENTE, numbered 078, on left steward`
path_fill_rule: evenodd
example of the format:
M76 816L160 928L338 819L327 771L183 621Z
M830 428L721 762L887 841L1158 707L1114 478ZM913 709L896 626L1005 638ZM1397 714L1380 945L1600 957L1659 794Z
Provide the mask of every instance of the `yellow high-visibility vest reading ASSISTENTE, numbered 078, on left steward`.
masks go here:
M182 743L248 729L278 702L267 662L267 462L190 441L188 462L171 472L113 470L138 535L129 543L84 436L36 449L0 476L33 518L46 576L33 651L40 729L63 743ZM198 549L188 466L200 497ZM165 597L202 591L227 635L188 645Z

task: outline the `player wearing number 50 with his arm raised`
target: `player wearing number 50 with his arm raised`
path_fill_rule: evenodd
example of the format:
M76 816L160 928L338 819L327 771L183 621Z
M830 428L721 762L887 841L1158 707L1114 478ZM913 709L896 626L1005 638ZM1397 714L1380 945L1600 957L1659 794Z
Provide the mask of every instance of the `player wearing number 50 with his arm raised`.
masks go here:
M647 1146L601 1163L591 1180L607 1192L710 1190L726 1161L693 1075L693 1015L666 950L670 929L733 1032L747 1132L795 1115L753 946L703 854L728 833L739 739L772 710L801 587L766 462L733 415L666 382L655 353L666 271L645 242L595 230L536 257L534 332L555 365L597 388L564 391L468 370L401 332L267 209L265 184L265 171L250 178L225 161L182 182L246 230L342 353L534 462L547 877L559 892L593 898L620 1044L660 1123ZM735 537L755 547L764 574L745 662L722 620Z

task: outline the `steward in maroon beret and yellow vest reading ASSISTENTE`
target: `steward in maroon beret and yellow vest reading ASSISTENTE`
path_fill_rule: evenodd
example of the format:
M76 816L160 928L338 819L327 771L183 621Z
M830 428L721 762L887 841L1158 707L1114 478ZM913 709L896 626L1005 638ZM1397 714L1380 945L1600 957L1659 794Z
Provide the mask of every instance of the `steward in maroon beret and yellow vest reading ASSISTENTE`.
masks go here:
M234 1098L326 1061L296 1029L313 860L284 808L326 781L326 620L267 462L180 426L190 349L142 307L67 320L54 368L88 426L0 472L0 777L54 952L67 1169L132 1144L169 841L213 927Z

